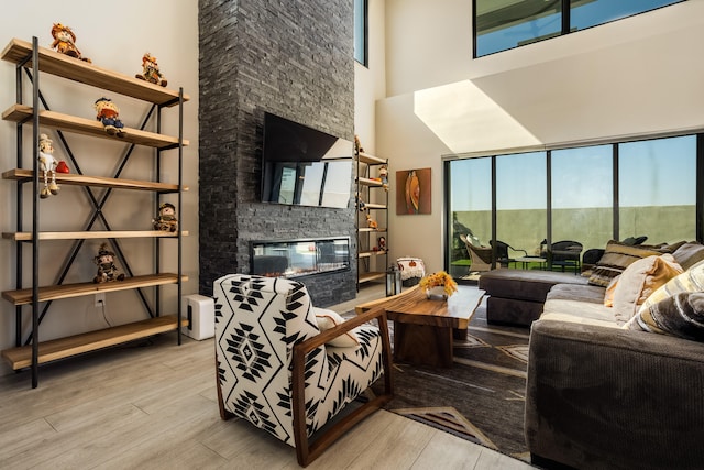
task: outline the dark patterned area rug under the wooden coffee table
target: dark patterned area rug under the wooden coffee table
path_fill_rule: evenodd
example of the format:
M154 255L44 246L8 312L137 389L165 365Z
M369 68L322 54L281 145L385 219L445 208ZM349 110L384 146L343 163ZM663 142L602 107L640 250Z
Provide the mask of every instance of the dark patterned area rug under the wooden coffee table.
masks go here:
M454 340L452 368L394 364L395 397L385 408L529 461L522 434L528 334L487 325L482 303L466 339Z

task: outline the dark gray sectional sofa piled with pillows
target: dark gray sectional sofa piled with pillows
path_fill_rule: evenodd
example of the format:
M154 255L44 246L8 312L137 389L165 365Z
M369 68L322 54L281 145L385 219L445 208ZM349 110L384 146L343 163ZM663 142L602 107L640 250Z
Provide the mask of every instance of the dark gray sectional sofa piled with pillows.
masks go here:
M530 325L525 436L532 460L546 468L702 469L704 247L629 248L613 263L609 248L622 247L610 243L607 261L595 266L608 274L601 280L516 270L480 280L487 317ZM631 272L654 264L670 270L657 280L661 286L641 286L638 302L624 303L623 292L638 284Z

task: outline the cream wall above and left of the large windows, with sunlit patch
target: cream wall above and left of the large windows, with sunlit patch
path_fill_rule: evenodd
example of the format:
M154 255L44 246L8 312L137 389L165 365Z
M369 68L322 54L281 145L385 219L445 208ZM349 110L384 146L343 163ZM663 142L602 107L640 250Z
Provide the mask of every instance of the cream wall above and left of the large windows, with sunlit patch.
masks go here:
M398 170L432 170L431 215L392 207L392 259L442 269L442 155L703 129L703 43L704 1L688 1L472 59L471 2L387 0L377 152L394 188Z

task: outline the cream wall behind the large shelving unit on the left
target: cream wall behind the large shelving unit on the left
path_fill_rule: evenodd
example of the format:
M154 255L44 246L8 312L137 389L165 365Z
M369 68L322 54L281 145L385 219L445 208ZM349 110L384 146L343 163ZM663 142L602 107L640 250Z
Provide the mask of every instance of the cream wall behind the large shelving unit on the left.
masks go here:
M141 73L141 58L151 52L158 59L161 70L168 79L168 88L183 87L190 100L184 107L184 133L190 141L184 159L184 184L189 192L184 195L182 207L182 226L190 236L184 238L183 266L189 281L184 284L184 294L197 292L198 288L198 2L196 0L122 0L119 3L86 2L65 0L54 2L35 0L31 2L9 2L0 17L0 47L4 47L12 37L31 41L38 37L41 46L51 47L51 30L54 22L72 26L77 35L76 45L82 54L92 59L101 68L133 76ZM41 75L41 89L52 110L73 116L95 119L92 103L107 96L120 107L121 118L127 127L136 128L145 116L148 105L121 97L117 94L78 85L69 80ZM4 110L15 102L14 65L0 62L0 109ZM25 85L29 89L29 85ZM25 102L31 103L31 97ZM163 132L178 135L177 108L164 113ZM147 130L154 130L148 128ZM54 156L68 160L58 143L54 131L42 128L54 140ZM25 135L31 136L30 125L25 125ZM117 161L122 156L124 145L113 144L105 140L90 139L77 134L65 134L72 151L85 174L111 176ZM24 166L31 166L31 146L28 145ZM175 182L177 172L173 166L177 152L170 151L164 156L164 165L168 167L165 181ZM0 171L4 172L15 164L15 125L0 122ZM154 172L153 151L138 147L131 157L123 177L148 179ZM72 166L69 164L69 166ZM72 172L75 168L72 166ZM25 193L25 200L31 201L31 185ZM10 181L0 181L0 229L15 230L15 185ZM151 229L152 195L134 194L142 192L116 190L109 199L103 212L118 230ZM29 206L29 205L28 205ZM41 203L41 220L44 230L81 230L90 216L90 205L84 190L76 186L64 185L57 196ZM28 212L28 219L29 212ZM96 226L96 229L102 229ZM29 230L28 226L25 230ZM101 240L89 240L78 254L69 271L66 282L89 282L96 274L92 258L97 254ZM166 243L166 247L168 247ZM175 247L175 241L172 245ZM135 275L148 274L152 271L151 244L146 240L127 240L122 243L128 261ZM52 284L72 243L47 241L41 243L42 284ZM0 241L0 289L15 288L14 243ZM29 253L29 252L28 252ZM164 270L174 270L176 255L164 256ZM28 254L29 259L29 254ZM119 263L118 263L119 265ZM120 269L122 266L119 265ZM24 270L30 278L31 270ZM29 286L29 284L25 284ZM175 311L176 288L164 288L165 311ZM29 308L24 308L25 315ZM134 292L107 294L107 319L112 325L144 319L146 314L141 308ZM14 307L0 300L0 349L14 346ZM102 310L95 308L92 297L54 302L41 328L41 338L51 339L65 335L105 328L107 321ZM24 337L28 330L25 329ZM2 363L0 373L10 369Z

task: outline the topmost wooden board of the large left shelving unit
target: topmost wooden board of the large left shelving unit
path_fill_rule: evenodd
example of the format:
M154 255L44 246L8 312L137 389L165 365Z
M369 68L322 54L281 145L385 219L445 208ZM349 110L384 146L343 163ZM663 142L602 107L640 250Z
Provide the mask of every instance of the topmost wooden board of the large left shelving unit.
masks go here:
M20 64L30 57L25 63L26 67L32 66L31 55L32 43L19 39L11 40L2 51L2 59L13 64ZM47 74L86 85L92 85L156 105L178 105L178 91L176 90L160 87L135 77L118 74L113 70L100 68L97 65L69 57L65 54L59 54L46 47L38 47L38 55L40 70ZM184 101L188 101L190 97L188 95L184 95Z

